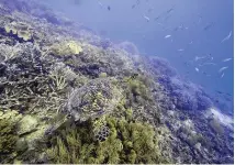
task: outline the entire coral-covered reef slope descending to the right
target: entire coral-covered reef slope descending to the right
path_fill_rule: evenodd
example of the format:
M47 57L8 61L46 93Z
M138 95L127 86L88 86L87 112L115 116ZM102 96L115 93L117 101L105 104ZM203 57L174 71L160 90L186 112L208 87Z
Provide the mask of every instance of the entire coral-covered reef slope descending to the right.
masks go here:
M233 129L167 61L0 1L0 163L233 163Z

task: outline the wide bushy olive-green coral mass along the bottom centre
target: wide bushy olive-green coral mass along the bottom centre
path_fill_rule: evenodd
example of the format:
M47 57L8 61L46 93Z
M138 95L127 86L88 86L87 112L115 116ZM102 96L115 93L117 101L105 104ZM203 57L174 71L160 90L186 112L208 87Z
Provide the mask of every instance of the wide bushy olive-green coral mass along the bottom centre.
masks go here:
M110 134L105 141L97 141L91 130L103 122ZM160 163L155 131L147 123L107 117L66 127L53 136L57 138L47 150L49 163Z

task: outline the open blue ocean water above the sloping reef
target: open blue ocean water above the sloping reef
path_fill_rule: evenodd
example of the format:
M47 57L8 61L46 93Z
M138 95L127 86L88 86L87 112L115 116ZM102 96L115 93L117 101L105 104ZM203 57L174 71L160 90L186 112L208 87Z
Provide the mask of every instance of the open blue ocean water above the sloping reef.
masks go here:
M46 2L102 37L115 43L130 41L139 54L166 58L182 77L225 101L228 108L222 111L233 111L233 0ZM222 42L230 33L231 37ZM223 62L226 58L232 61ZM227 68L219 73L222 67Z

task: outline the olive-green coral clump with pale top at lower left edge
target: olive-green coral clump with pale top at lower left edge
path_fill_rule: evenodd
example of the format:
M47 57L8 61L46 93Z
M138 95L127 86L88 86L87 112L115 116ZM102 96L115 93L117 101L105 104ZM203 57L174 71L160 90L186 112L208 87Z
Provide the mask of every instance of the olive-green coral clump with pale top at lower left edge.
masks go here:
M16 124L21 117L14 110L8 110L4 113L0 111L0 162L7 161L9 154L15 151L15 144L19 140Z

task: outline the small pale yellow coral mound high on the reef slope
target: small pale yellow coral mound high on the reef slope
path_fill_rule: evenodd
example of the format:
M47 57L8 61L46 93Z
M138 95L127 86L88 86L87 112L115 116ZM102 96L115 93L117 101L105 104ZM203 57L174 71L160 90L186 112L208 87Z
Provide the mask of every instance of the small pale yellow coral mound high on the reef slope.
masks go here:
M54 55L72 55L79 54L82 52L80 44L76 41L65 41L60 43L56 43L51 48Z

